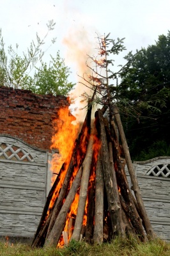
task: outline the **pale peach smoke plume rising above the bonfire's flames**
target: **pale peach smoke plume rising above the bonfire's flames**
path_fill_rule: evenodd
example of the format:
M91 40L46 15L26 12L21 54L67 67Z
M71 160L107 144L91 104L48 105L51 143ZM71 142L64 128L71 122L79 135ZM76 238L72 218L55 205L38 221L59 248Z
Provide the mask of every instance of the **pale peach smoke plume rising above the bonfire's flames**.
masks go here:
M75 116L76 122L83 122L87 112L87 97L93 94L89 88L89 84L84 81L83 77L88 79L88 74L91 74L90 68L86 66L88 55L92 56L95 52L95 33L91 36L89 31L84 28L69 29L67 35L63 39L63 43L67 47L66 60L71 61L74 65L77 84L70 92L69 97L72 104L70 111ZM91 38L93 40L91 40ZM88 61L90 65L90 61ZM84 93L86 97L84 97Z

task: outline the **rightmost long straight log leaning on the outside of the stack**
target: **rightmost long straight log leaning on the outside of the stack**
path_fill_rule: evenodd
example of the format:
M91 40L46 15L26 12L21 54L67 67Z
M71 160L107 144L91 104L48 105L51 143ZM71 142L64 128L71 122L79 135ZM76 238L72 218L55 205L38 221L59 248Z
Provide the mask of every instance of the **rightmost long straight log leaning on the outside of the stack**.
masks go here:
M123 131L123 125L121 124L120 114L118 113L118 108L114 105L113 112L116 120L116 124L118 125L118 130L120 132L121 143L123 147L123 151L125 154L125 159L127 162L128 172L130 174L130 178L133 184L133 190L135 193L135 198L137 200L137 204L139 205L139 211L141 212L142 219L144 221L144 227L146 228L146 234L148 235L148 239L153 239L155 234L153 232L153 228L151 227L150 220L148 218L148 214L146 213L146 209L144 207L143 198L141 196L141 191L137 182L137 178L135 176L134 167L131 161L130 153L128 150L127 140L125 138L125 132Z

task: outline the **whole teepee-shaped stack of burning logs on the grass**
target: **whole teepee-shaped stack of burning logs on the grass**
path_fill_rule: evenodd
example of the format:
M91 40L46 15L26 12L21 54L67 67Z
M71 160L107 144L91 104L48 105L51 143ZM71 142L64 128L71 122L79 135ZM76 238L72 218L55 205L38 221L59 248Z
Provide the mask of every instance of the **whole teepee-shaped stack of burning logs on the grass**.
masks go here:
M33 247L60 246L72 239L102 243L129 234L141 241L154 237L118 109L113 107L110 123L103 112L95 113L92 129L88 108L70 164L63 164L47 197ZM135 196L128 186L125 163Z

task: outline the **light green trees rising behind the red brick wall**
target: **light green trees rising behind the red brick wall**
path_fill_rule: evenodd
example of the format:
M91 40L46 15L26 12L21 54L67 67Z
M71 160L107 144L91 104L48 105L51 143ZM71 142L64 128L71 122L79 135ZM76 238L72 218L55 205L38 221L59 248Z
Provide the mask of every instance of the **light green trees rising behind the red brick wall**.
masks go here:
M54 26L55 23L50 20L46 35L41 39L36 33L36 42L32 40L27 51L22 52L22 55L18 53L18 44L15 49L10 45L6 53L0 29L0 86L29 89L39 94L67 95L74 84L68 82L70 68L65 66L59 51L55 58L51 56L49 65L43 61L46 51L43 51L42 47ZM52 38L51 44L55 42L56 38Z

